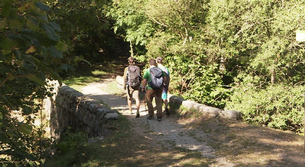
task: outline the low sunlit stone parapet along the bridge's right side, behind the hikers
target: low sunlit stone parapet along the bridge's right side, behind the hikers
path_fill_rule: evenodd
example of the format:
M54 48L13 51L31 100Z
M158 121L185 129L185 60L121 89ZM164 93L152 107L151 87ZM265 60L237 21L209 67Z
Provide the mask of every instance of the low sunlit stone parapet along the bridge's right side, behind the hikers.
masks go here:
M122 76L117 76L117 85L120 88L123 88L124 79ZM206 106L204 104L196 103L195 101L186 100L179 96L174 96L172 94L167 94L168 102L176 103L187 108L194 108L201 113L209 116L209 117L221 117L231 120L239 120L241 119L241 112L235 110L223 110L211 106Z

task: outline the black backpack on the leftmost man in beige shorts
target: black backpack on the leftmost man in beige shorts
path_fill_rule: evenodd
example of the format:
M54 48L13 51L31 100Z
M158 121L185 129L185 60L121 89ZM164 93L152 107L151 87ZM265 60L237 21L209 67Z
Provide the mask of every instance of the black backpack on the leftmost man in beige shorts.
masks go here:
M128 71L128 85L134 89L141 85L142 78L140 77L140 68L138 66L129 66Z

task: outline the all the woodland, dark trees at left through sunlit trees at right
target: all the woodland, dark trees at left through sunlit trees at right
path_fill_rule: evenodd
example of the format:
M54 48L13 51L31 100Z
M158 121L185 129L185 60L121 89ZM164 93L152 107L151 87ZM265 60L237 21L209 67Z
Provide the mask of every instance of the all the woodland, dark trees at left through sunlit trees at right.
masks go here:
M120 40L138 61L164 58L171 93L302 134L304 10L304 0L1 0L0 159L41 163L50 142L31 115L51 95L46 79L110 60Z

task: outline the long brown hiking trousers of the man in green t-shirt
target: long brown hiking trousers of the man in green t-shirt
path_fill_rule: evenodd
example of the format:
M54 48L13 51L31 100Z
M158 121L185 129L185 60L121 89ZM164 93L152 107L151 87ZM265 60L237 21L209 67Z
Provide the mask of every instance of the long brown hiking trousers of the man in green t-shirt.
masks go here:
M162 118L162 99L161 99L162 90L163 90L163 88L146 90L148 114L150 116L154 115L152 99L153 99L153 97L155 97L155 102L156 102L156 107L157 107L157 117Z

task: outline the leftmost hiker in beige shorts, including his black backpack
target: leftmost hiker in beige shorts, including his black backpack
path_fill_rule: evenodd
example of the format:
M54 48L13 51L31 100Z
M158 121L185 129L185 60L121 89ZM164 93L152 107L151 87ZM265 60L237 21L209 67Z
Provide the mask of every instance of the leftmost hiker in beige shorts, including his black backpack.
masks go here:
M135 58L128 58L129 66L124 70L124 92L127 93L127 103L129 106L129 113L132 114L131 110L131 100L135 99L137 106L136 118L140 117L139 108L139 88L142 81L141 70L138 66L134 64Z

